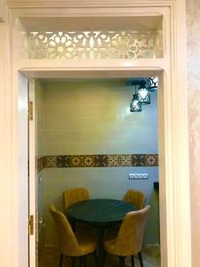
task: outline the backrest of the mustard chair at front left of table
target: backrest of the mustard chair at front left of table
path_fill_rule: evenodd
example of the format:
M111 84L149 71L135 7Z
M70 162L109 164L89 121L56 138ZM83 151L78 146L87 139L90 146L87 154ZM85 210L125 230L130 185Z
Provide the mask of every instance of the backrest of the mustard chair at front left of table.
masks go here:
M49 206L50 213L56 224L58 235L60 238L61 253L68 256L76 256L80 254L80 247L74 232L71 229L68 219L64 214L59 212L55 206Z

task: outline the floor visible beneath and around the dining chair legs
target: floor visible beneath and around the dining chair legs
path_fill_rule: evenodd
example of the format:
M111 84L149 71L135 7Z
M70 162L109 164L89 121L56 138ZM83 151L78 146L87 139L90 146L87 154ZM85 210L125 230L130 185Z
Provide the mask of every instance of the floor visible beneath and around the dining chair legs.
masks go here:
M144 267L160 267L159 253L157 253L157 247L148 247L145 252L142 253ZM41 255L39 261L39 267L57 267L59 266L59 252L55 248L45 248L43 254ZM87 255L86 257L87 267L94 267L95 261L93 255ZM66 257L62 267L70 267L70 261ZM76 266L79 266L76 263ZM126 258L125 266L131 266L131 261ZM115 256L108 255L105 267L118 267L118 259ZM135 267L140 267L140 263L137 258L135 258Z

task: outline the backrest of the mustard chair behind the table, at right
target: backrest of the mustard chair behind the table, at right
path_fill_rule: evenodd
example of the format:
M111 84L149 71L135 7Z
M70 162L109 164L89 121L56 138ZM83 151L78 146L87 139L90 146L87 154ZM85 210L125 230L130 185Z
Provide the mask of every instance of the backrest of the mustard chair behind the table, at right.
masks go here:
M146 196L143 192L137 190L127 190L124 195L124 201L141 209L145 206Z

